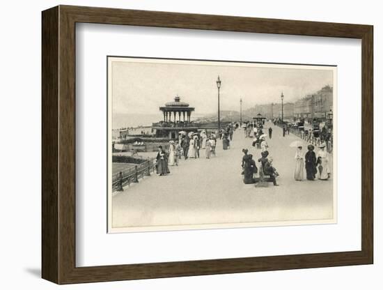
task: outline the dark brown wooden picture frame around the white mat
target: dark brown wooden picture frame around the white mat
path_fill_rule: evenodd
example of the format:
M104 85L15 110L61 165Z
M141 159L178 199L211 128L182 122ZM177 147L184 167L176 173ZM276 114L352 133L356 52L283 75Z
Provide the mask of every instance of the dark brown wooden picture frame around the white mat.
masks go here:
M361 251L77 267L77 22L361 39ZM79 6L42 12L42 278L70 284L361 264L373 264L373 26Z

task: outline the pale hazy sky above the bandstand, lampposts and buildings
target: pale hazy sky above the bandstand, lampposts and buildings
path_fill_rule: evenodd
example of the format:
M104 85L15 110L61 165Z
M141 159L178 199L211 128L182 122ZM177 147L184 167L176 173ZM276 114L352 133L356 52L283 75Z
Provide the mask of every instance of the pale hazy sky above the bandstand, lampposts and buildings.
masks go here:
M295 102L323 86L333 86L333 70L317 66L273 66L256 63L183 61L113 61L111 95L113 114L159 114L159 107L180 96L196 114L217 112L217 77L221 79L220 109L249 109L270 102ZM309 69L308 69L309 68ZM110 85L110 84L109 84Z

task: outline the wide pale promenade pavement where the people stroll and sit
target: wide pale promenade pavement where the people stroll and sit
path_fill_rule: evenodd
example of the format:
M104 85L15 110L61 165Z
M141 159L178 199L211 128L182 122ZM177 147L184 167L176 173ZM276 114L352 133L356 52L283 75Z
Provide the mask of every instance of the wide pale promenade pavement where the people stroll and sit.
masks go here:
M281 128L272 123L265 128L270 126L273 135L267 142L280 174L279 186L269 183L267 188L256 188L243 183L242 148L249 148L255 160L260 157L260 149L252 147L252 139L245 138L239 129L229 150L222 150L218 140L216 157L206 159L201 151L201 158L182 159L180 166L170 167L168 176L152 175L114 193L113 227L331 219L332 178L295 181L296 149L289 144L298 137L292 134L282 137ZM306 142L302 143L306 151Z

